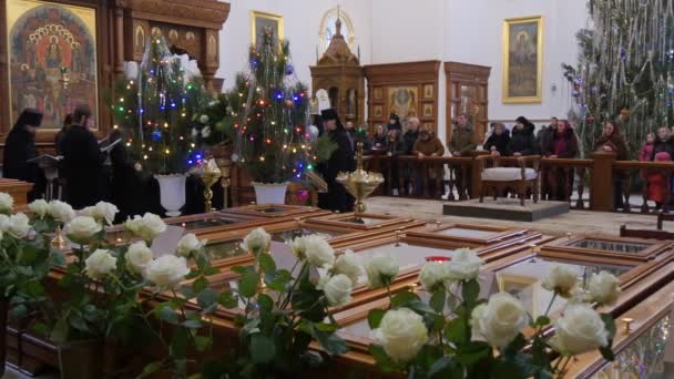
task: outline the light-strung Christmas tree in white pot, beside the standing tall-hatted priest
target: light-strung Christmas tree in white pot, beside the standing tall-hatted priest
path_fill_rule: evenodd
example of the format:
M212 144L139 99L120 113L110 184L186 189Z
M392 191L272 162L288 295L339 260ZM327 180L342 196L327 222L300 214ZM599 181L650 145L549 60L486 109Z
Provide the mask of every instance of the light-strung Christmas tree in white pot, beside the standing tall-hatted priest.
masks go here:
M237 75L229 93L232 129L236 132L234 161L254 182L284 183L302 178L319 160L317 130L308 129L307 86L295 76L288 41L270 30L252 47L249 72Z

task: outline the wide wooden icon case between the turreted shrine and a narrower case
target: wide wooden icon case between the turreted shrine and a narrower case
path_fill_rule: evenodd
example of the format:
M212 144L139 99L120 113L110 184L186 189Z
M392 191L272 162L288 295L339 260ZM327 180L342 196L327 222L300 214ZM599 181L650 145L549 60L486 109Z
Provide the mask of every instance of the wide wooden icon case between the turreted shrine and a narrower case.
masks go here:
M439 69L440 61L366 65L370 132L379 124L388 124L395 112L401 123L416 116L421 125L437 133Z

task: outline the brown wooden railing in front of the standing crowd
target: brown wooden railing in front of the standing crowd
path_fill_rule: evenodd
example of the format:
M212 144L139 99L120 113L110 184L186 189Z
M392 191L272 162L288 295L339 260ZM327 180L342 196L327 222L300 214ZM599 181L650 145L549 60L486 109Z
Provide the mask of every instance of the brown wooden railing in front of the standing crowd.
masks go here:
M410 155L388 156L380 153L365 157L369 171L380 172L386 182L375 195L404 196L416 198L442 198L449 191L447 199L461 201L479 196L481 181L477 156L484 155L476 152L471 156L417 157ZM614 178L622 177L623 212L632 212L630 195L639 193L642 196L640 211L651 211L647 203L647 182L645 175L657 173L664 176L666 190L664 211L671 197L671 183L674 174L674 162L639 162L615 161L611 153L594 153L590 158L541 158L540 191L541 198L562 197L576 209L613 211ZM500 166L514 166L515 157L499 157ZM551 174L573 177L566 181L562 196L555 194L549 186Z

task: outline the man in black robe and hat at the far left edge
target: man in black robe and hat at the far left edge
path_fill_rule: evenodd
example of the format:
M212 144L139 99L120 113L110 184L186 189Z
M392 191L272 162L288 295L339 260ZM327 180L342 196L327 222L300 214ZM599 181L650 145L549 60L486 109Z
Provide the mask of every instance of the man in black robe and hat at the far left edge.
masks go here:
M34 183L35 186L28 195L29 201L40 197L47 184L38 165L28 163L38 156L35 132L41 123L42 112L32 107L24 109L4 142L2 176Z

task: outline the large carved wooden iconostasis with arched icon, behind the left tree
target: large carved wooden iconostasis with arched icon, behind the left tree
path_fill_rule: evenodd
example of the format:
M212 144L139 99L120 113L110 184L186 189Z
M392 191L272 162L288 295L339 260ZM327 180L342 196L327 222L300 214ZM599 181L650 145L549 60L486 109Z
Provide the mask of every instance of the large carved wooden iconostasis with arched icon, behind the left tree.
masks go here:
M174 53L197 60L206 85L219 90L218 31L228 14L229 3L217 0L0 1L0 148L27 106L44 113L40 153L53 153L54 135L76 104L91 106L99 136L106 135L106 94L156 31Z

